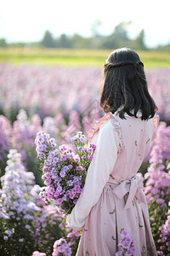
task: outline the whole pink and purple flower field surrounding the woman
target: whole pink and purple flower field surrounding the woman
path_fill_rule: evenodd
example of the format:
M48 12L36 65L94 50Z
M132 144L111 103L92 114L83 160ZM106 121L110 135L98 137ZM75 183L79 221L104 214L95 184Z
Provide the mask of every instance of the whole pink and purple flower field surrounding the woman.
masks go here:
M139 172L158 255L170 255L170 68L146 70L146 76L161 121ZM75 255L80 234L39 196L35 138L38 131L58 145L70 143L76 131L89 138L103 115L101 85L100 67L0 64L0 255ZM117 255L127 255L123 243L119 249L124 254Z

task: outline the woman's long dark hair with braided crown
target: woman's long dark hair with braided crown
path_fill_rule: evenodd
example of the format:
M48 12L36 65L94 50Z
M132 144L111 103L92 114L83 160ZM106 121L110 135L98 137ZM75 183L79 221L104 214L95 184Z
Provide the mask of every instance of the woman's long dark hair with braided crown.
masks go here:
M144 64L133 49L115 49L105 61L100 106L105 113L115 113L122 106L118 112L122 119L125 112L137 118L139 110L144 120L155 115L158 108L148 91Z

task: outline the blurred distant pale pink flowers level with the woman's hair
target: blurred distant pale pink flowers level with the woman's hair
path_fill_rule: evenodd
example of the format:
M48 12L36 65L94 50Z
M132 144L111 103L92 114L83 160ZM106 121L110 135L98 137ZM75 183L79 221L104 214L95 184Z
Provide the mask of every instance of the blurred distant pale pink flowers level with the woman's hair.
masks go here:
M84 115L99 110L102 86L99 67L12 66L0 64L0 111L8 118L26 109L41 118L64 117L76 110ZM170 68L146 71L150 94L156 100L161 119L170 119Z

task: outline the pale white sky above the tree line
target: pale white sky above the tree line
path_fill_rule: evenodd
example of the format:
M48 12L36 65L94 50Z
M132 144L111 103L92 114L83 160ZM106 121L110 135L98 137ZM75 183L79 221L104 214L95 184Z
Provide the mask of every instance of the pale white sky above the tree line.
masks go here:
M40 41L46 30L88 37L94 20L103 35L131 20L130 38L144 29L147 46L170 44L170 0L0 0L0 38L8 43Z

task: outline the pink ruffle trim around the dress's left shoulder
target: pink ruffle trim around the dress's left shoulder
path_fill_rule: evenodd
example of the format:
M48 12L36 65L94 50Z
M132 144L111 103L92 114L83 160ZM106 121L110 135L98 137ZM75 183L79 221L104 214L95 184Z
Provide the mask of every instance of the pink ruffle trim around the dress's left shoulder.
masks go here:
M99 121L95 121L93 129L90 131L92 135L89 139L89 142L92 142L94 135L99 131L101 125L104 125L108 119L111 119L111 123L115 127L115 131L117 132L119 137L119 148L117 150L117 154L119 155L122 151L122 128L116 117L111 112L105 113L105 115L101 119L99 119Z

